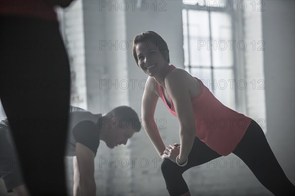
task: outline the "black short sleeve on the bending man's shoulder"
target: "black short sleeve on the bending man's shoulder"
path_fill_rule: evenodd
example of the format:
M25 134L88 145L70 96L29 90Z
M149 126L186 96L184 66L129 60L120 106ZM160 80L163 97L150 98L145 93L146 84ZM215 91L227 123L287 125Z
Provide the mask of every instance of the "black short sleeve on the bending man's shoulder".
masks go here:
M73 128L76 142L88 147L95 155L99 146L99 135L99 126L92 121L82 121Z

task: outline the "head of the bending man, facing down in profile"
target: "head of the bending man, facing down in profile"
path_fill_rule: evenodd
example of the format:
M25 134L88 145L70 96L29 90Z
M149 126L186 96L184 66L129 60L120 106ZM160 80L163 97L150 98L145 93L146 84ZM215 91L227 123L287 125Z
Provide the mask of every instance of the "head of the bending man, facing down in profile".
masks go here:
M127 140L141 129L137 113L128 106L114 108L106 113L99 123L102 127L101 139L110 148L126 145Z

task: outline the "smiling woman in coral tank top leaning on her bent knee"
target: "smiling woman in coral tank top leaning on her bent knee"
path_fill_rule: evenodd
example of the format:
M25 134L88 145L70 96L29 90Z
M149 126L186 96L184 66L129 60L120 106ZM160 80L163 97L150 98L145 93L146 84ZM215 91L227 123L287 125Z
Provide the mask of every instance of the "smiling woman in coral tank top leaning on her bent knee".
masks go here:
M226 107L198 78L169 65L169 49L153 31L133 40L136 64L148 75L142 99L146 132L161 158L162 173L170 195L190 196L182 173L233 152L274 195L291 195L295 186L288 180L261 127L251 118ZM178 118L180 145L165 147L154 123L158 98Z

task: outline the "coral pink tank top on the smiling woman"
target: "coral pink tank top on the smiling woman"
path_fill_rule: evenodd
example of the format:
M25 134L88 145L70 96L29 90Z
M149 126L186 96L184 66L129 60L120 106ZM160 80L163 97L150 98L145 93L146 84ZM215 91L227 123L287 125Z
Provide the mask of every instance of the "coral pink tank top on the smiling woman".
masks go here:
M169 72L175 68L171 65ZM198 80L201 84L201 93L191 98L196 137L220 155L226 156L234 151L252 119L223 105L204 83ZM170 108L160 84L158 89L169 111L177 117L172 99L170 98Z

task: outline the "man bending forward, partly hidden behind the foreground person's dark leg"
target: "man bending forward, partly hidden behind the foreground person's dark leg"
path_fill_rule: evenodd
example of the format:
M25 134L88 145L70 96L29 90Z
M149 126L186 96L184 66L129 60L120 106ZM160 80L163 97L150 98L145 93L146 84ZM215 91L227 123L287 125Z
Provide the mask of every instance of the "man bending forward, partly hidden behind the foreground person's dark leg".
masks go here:
M73 156L74 196L94 196L94 157L100 141L109 148L126 145L128 139L140 131L141 123L137 113L128 106L116 107L104 115L71 106L69 122L66 156ZM18 159L5 119L0 124L0 177L7 192L28 195L19 164L15 163Z

